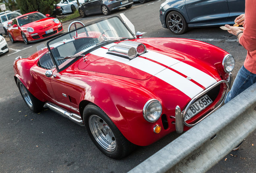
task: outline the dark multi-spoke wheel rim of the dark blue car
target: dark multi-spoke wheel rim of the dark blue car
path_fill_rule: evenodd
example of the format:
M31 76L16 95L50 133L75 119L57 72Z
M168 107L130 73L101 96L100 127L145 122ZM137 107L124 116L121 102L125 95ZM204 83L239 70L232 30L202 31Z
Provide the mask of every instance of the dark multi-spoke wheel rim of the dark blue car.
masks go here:
M168 18L168 25L171 31L179 33L183 28L182 18L178 14L171 14Z

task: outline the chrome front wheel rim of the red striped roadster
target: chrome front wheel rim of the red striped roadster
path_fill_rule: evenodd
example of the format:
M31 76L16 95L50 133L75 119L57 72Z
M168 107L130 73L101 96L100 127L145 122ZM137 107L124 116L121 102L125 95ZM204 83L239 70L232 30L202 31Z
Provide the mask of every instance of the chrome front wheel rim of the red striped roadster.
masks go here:
M97 115L91 115L89 117L89 127L93 137L103 149L107 151L116 149L116 138L103 119Z

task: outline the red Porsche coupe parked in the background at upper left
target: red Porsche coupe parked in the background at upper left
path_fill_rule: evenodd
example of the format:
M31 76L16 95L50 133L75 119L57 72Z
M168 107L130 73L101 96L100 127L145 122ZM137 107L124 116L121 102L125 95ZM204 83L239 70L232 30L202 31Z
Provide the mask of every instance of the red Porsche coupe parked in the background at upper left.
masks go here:
M50 16L46 14L46 16ZM26 44L43 40L63 32L62 24L56 18L47 18L40 12L31 12L18 16L8 28L12 43L24 41Z

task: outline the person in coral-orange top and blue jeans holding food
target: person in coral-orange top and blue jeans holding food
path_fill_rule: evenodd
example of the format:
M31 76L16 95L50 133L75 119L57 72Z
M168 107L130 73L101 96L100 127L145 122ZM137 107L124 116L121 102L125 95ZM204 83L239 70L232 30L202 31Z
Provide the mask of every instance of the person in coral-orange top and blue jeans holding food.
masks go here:
M244 28L225 25L230 29L228 32L237 36L239 43L247 50L244 65L238 71L233 86L227 94L225 103L256 82L256 1L246 0L245 3L245 14L241 14L235 18L235 23L243 25ZM239 149L239 145L233 151Z

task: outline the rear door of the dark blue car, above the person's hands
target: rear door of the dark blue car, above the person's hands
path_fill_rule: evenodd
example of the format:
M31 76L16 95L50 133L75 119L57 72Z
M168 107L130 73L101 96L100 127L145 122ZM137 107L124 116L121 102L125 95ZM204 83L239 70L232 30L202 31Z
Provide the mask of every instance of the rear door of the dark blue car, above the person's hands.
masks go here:
M244 14L245 0L227 0L229 18L233 21L240 14Z

